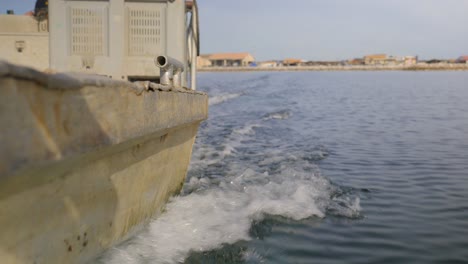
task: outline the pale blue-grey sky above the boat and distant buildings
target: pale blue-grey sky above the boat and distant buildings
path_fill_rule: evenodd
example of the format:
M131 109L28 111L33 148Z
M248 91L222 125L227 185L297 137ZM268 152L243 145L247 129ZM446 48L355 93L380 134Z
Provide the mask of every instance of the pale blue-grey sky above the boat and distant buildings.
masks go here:
M1 13L34 0L0 0ZM468 0L198 0L201 53L258 61L468 55Z

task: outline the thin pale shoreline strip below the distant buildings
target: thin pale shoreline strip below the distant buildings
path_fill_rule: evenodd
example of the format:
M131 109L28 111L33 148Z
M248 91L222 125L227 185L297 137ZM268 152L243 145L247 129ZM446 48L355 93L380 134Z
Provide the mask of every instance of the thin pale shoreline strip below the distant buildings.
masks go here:
M278 67L199 67L200 72L247 71L468 71L468 64L278 66Z

